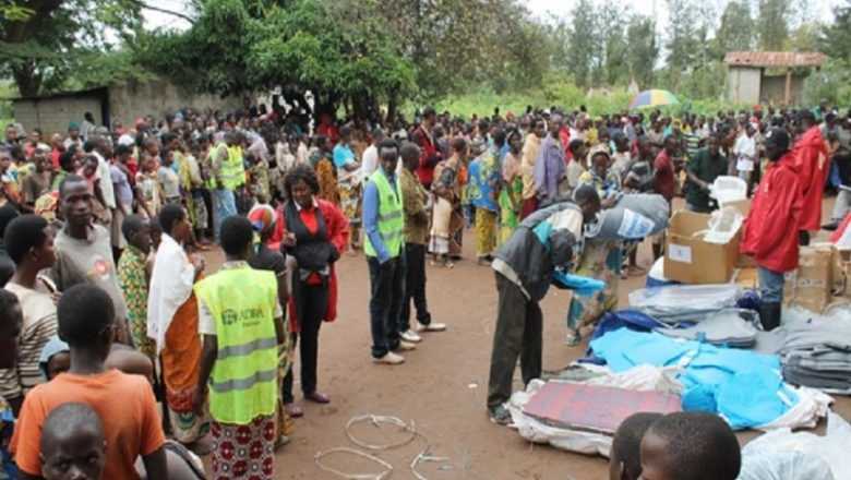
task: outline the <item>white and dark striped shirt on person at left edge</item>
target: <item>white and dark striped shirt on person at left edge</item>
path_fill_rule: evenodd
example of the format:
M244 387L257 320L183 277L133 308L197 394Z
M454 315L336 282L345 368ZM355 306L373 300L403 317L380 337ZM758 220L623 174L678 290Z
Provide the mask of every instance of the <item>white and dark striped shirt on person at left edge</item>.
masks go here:
M5 285L5 289L17 297L24 313L17 343L17 365L0 370L0 394L10 399L45 382L38 360L44 346L56 335L57 316L56 304L47 289L33 290L12 281Z

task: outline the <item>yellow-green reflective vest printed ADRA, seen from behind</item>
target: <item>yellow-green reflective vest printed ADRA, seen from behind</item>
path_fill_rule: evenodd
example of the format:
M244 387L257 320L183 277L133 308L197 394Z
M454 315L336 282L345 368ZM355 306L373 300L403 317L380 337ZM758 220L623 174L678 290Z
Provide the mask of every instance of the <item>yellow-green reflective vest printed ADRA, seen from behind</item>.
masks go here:
M194 290L216 322L218 353L209 379L209 415L220 423L244 425L275 413L275 274L248 266L223 269L195 284Z

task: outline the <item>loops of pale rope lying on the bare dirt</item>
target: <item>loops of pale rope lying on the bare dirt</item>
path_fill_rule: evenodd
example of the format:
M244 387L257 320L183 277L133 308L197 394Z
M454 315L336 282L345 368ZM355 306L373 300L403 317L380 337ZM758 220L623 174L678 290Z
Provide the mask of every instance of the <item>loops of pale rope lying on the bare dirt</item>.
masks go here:
M369 421L372 423L375 428L381 428L381 424L389 424L394 427L398 427L401 432L407 432L410 434L410 436L403 439L398 442L388 443L385 445L372 445L365 442L361 442L358 439L356 439L350 430L351 427L356 423ZM435 461L435 463L447 463L450 461L448 457L435 457L430 454L431 452L431 445L429 444L429 439L425 437L422 433L419 433L417 431L416 424L413 423L413 420L411 420L410 424L404 422L403 420L396 418L396 417L388 417L388 416L382 416L382 415L361 415L357 417L352 417L347 423L346 423L346 436L348 436L349 441L362 448L367 448L370 451L388 451L393 448L398 448L400 446L405 446L411 442L413 442L416 439L422 439L423 442L425 442L425 448L420 452L419 455L413 457L413 460L410 464L410 471L413 473L413 477L417 478L417 480L428 480L422 473L417 471L417 466L421 463L427 461ZM331 468L325 466L322 463L322 459L328 455L338 454L338 453L345 453L350 455L357 455L359 457L365 458L368 460L371 460L373 463L376 463L384 467L384 470L381 473L346 473L344 471L339 471L337 469ZM349 448L349 447L337 447L337 448L331 448L324 452L316 453L316 456L313 457L316 466L329 473L334 473L337 477L345 478L348 480L384 480L386 478L389 478L389 476L393 473L393 465L382 460L381 458L377 458L373 455L370 455L368 453L361 452L356 448Z

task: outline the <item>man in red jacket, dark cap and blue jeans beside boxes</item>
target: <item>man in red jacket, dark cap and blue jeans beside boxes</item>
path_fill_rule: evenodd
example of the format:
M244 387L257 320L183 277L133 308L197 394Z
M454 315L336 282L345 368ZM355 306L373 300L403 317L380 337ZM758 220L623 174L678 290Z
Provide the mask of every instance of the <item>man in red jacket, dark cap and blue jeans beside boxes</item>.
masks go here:
M803 196L794 152L789 152L789 133L774 129L766 136L765 151L770 165L754 194L751 214L744 224L742 253L757 265L763 328L780 325L783 302L783 274L798 268L798 238L801 231Z

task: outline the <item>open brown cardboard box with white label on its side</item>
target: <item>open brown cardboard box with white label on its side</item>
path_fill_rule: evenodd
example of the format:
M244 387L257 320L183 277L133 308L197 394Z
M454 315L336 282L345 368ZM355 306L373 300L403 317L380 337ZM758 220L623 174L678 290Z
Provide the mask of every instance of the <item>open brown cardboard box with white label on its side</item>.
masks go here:
M741 232L726 244L705 242L699 232L709 228L709 215L686 211L673 214L664 252L667 279L683 284L730 281L739 260Z

